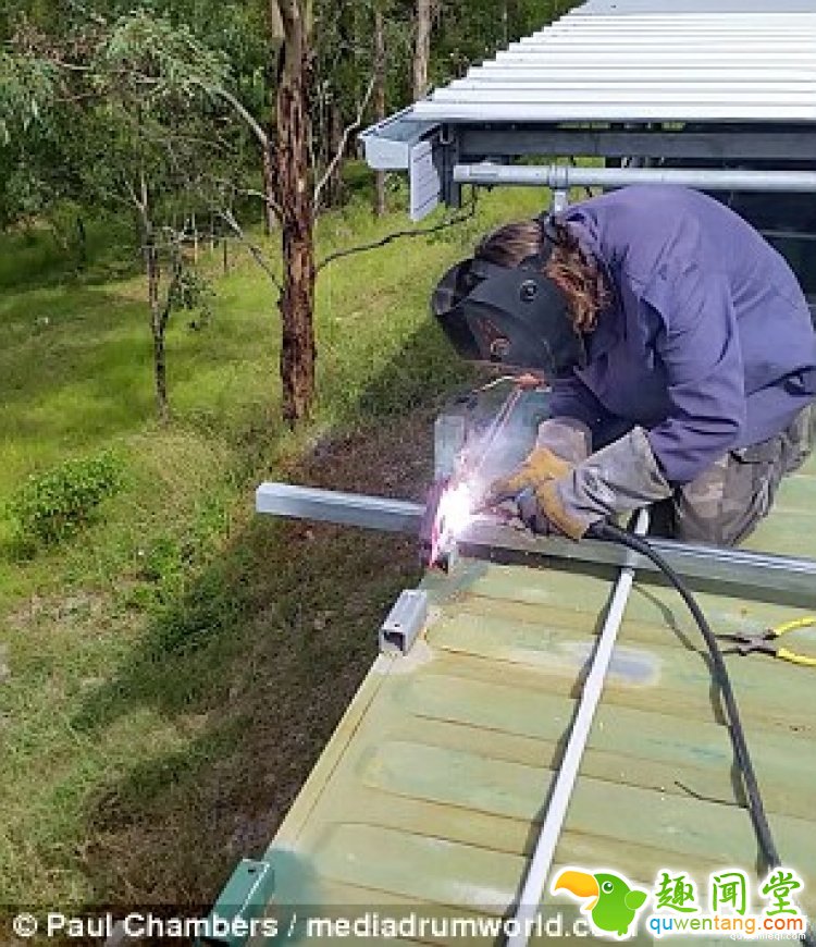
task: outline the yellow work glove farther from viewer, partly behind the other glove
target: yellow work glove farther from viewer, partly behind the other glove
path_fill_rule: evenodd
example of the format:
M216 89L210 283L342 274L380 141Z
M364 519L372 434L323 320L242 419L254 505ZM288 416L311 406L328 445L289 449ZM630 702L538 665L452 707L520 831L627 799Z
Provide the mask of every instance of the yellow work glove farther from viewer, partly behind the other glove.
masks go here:
M574 464L590 451L590 429L571 418L556 418L539 426L535 447L520 467L507 477L495 480L486 495L486 505L516 500L519 494L532 495L548 480L566 477Z

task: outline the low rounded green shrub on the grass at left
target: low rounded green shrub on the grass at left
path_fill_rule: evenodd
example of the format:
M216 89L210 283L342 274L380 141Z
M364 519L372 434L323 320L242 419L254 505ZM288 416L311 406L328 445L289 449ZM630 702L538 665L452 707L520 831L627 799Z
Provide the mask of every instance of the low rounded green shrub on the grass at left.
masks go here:
M20 539L55 543L73 536L120 488L123 466L120 457L104 451L29 477L10 504Z

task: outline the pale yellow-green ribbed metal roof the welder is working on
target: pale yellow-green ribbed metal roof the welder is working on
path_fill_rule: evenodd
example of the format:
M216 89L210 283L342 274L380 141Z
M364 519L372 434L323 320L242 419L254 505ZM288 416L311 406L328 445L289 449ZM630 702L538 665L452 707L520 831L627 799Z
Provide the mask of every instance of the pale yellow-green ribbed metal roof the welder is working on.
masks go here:
M814 555L815 537L816 459L784 481L750 545ZM473 561L425 580L425 640L375 662L267 853L275 902L318 915L358 905L500 917L534 845L610 585ZM725 593L700 600L719 631L803 614ZM802 641L816 649L816 634ZM608 866L650 887L664 868L702 883L708 871L754 865L700 649L677 594L636 581L557 865ZM727 660L779 848L809 880L803 907L816 914L816 671Z

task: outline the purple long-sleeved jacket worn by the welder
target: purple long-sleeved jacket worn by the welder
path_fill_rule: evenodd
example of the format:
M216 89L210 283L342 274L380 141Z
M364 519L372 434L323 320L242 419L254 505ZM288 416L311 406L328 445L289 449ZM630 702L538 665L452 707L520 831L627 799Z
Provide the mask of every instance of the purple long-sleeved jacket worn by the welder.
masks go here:
M682 187L593 197L562 219L606 268L614 299L589 365L554 385L554 416L595 448L634 425L666 479L783 430L816 396L816 333L784 259L727 207Z

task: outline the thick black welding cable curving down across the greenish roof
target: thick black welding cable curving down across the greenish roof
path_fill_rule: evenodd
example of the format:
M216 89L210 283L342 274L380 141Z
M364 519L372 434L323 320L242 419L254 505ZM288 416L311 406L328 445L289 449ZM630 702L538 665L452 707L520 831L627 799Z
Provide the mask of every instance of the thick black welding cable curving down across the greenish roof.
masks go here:
M763 858L765 859L767 870L771 871L775 868L779 868L781 865L779 851L774 841L770 825L768 824L768 817L765 813L765 804L763 802L762 792L759 791L759 784L754 771L754 764L751 760L751 753L749 752L747 743L745 741L745 731L740 718L739 708L737 706L737 698L734 697L733 688L731 687L731 678L728 676L728 668L726 667L726 662L722 660L722 651L717 642L717 638L712 630L707 618L703 614L702 608L697 604L696 599L692 595L689 587L675 569L672 569L666 559L652 548L647 540L642 537L634 536L626 529L621 529L611 522L603 520L590 527L586 534L604 542L615 542L619 545L627 546L628 549L631 549L651 559L677 589L680 597L688 605L689 611L694 616L694 620L697 623L703 638L705 639L706 647L708 648L714 678L719 688L722 703L725 704L728 730L731 736L737 763L742 773L747 808L751 813L751 820L754 823L756 840L759 845ZM801 942L807 945L807 947L816 947L816 939L809 931L802 935Z

